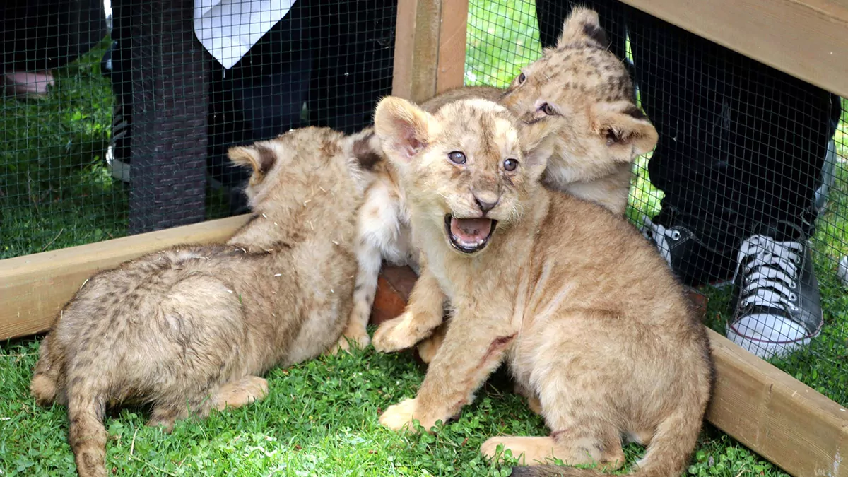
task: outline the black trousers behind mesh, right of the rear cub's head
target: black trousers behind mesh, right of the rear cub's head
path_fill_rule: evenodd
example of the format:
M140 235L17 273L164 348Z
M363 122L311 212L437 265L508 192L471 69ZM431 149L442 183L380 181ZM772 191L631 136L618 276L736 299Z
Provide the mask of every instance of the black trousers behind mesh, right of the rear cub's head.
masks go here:
M813 199L840 115L840 98L615 0L594 8L625 58L660 134L650 182L665 194L655 222L683 225L723 274L746 235L812 233ZM541 41L555 44L571 2L537 0ZM782 235L782 237L781 237ZM717 263L721 262L721 263Z

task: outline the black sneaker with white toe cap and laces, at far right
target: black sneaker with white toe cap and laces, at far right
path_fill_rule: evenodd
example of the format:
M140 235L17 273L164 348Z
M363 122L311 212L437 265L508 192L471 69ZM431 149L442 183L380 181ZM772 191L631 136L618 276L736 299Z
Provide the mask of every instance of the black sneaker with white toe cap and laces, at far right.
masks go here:
M763 359L809 345L822 331L822 305L806 239L745 239L737 255L738 295L728 339Z

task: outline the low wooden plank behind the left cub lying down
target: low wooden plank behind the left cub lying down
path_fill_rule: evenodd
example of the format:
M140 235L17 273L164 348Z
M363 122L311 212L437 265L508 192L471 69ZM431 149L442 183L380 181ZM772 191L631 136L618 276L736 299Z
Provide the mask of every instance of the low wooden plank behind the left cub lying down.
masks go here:
M177 244L224 242L248 215L0 261L0 340L47 331L95 272Z

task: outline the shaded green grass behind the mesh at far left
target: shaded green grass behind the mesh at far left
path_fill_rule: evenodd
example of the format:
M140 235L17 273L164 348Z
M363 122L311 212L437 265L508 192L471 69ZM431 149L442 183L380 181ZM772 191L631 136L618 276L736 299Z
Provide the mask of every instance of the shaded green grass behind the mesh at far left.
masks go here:
M126 235L129 188L104 160L113 99L100 59L108 45L54 71L46 98L0 96L0 259ZM226 214L222 193L207 198L207 218Z

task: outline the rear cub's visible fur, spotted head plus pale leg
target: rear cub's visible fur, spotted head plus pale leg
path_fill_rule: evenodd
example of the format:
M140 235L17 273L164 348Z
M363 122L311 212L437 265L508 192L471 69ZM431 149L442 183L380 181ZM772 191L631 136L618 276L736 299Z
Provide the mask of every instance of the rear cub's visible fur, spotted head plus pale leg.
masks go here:
M636 107L627 69L607 46L598 15L575 8L563 24L557 46L546 49L541 59L524 68L510 87L457 88L421 107L433 113L459 99L489 99L504 104L538 130L537 134L557 131L544 183L623 214L632 162L654 148L657 134ZM379 179L366 195L359 227L360 275L346 336L367 345L365 324L382 261L417 266L408 241L409 211L390 164L381 166ZM378 351L389 347L380 336L375 337L374 345Z

